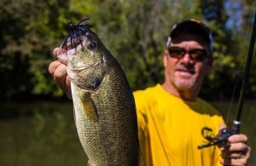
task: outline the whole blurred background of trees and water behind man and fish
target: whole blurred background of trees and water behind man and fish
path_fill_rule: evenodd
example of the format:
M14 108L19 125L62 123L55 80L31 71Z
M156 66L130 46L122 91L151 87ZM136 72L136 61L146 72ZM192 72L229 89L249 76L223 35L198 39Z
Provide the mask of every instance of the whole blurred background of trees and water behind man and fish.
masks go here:
M0 165L86 164L72 101L48 72L55 60L52 50L69 32L67 14L73 24L90 17L86 23L119 60L133 90L162 83L162 54L173 24L202 20L212 29L214 68L200 96L216 106L228 124L236 116L254 0L1 0L0 6ZM254 59L241 119L241 132L249 136L253 149ZM256 165L254 153L248 165Z

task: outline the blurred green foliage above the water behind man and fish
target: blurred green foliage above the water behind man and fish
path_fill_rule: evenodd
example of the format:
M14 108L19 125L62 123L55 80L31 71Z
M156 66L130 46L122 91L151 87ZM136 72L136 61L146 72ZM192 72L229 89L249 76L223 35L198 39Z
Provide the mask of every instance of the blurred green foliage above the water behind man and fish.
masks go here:
M230 0L232 1L232 0ZM234 2L236 0L233 0ZM232 1L232 2L233 2ZM113 56L119 60L132 89L163 82L162 54L175 22L197 18L213 32L215 67L202 96L230 97L234 77L245 63L253 2L241 3L241 29L227 27L236 10L224 9L227 1L191 0L3 0L0 9L1 97L22 94L61 96L48 73L52 49L68 33L67 15L73 24L84 17L94 25ZM237 3L237 2L236 2ZM255 5L254 5L255 6ZM241 75L240 75L241 77ZM250 94L256 91L251 77ZM255 94L255 93L254 93Z

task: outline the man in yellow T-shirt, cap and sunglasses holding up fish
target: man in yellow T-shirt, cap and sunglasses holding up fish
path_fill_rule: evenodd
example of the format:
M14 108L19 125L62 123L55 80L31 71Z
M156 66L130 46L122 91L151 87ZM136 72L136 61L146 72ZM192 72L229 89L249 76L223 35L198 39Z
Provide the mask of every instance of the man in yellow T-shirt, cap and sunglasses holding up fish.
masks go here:
M246 135L230 136L225 147L197 148L207 143L202 129L217 135L224 127L218 112L197 97L204 76L212 70L210 30L198 20L174 26L163 59L165 82L134 92L146 165L246 165L251 152ZM49 65L49 73L71 98L66 66L56 60Z

